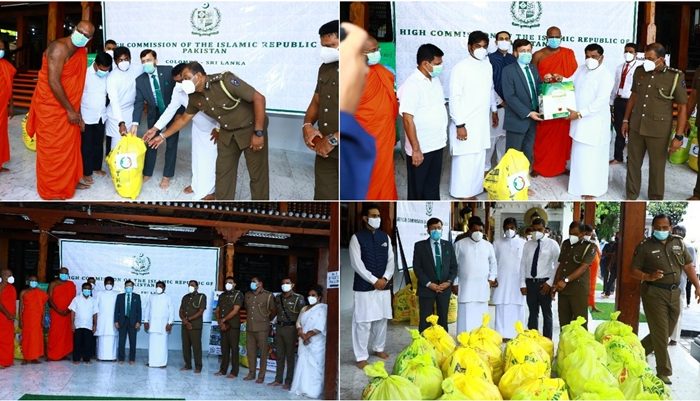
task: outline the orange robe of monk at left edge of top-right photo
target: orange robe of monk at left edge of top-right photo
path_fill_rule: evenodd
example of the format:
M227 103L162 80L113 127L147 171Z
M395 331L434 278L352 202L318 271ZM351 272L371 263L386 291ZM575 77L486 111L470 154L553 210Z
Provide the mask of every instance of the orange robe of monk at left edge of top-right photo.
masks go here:
M369 67L367 82L355 118L374 137L377 157L372 168L366 199L396 200L394 146L399 104L394 92L394 74L382 65Z

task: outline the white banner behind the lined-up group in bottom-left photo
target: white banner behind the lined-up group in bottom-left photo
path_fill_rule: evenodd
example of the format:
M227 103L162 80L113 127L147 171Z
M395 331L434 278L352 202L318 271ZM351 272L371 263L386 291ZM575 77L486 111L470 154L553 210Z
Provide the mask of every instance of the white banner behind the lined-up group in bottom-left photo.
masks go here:
M190 280L199 283L198 292L207 296L204 321L212 320L212 302L219 267L219 248L168 245L127 244L98 241L59 241L61 266L69 269L70 279L78 286L95 277L96 290L104 290L104 278L114 277L114 291L123 291L124 282L134 282L145 309L148 297L155 293L156 281L165 282L165 293L175 308L175 320Z

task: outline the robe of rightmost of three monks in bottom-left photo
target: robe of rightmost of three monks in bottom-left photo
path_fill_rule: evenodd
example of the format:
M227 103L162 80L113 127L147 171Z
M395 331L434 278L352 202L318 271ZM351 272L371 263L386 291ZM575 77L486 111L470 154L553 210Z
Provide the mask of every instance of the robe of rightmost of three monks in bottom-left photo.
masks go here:
M38 143L38 142L37 142ZM72 281L62 282L53 288L53 303L61 311L67 310L75 298L75 284ZM49 312L49 341L46 356L49 360L60 361L73 352L73 322L70 313L61 316L53 308Z

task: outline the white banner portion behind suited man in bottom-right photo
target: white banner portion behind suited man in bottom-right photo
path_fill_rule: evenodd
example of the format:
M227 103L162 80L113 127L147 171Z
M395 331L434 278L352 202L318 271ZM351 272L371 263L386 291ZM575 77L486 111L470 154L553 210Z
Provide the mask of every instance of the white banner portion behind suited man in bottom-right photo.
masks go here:
M450 202L396 202L396 229L401 236L401 244L409 267L413 266L413 247L416 242L428 239L426 223L431 217L442 220L442 239L449 241L451 205ZM398 248L397 252L399 252ZM399 259L399 269L402 268L403 265Z

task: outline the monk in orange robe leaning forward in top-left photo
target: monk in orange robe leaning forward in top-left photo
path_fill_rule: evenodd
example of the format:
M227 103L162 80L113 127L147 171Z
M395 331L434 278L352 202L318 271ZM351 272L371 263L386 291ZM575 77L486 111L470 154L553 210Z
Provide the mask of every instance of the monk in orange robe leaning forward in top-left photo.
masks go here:
M42 59L27 119L27 133L37 136L37 191L43 199L69 199L80 183L83 161L80 153L80 116L87 51L95 27L80 21L69 37L49 45Z

